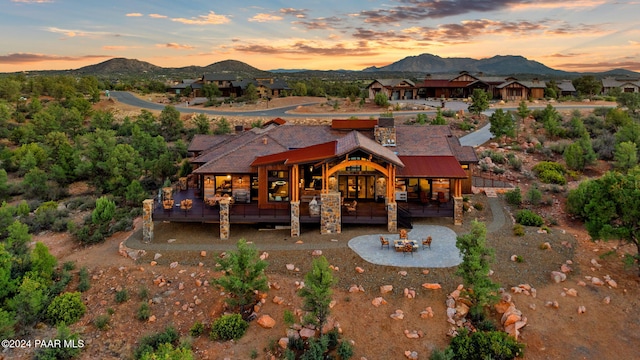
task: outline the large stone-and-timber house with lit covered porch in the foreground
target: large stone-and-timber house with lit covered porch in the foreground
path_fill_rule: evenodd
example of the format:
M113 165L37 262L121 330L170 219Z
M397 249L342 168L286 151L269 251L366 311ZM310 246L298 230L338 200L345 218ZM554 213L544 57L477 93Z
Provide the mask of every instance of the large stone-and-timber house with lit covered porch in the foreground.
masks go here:
M326 234L343 224L396 231L421 217L461 224L462 194L471 191L478 162L449 127L396 125L393 118L331 125L278 119L231 135L198 135L188 150L193 173L160 199L169 206L147 205L149 218L218 223L221 238L235 223L287 225L291 236L301 224ZM193 207L173 207L185 198Z

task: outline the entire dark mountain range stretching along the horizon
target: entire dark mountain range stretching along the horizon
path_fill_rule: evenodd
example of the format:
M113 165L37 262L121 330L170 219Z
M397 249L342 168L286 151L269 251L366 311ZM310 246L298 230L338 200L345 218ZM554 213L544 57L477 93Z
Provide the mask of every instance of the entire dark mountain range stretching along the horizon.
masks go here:
M277 69L260 70L237 60L224 60L207 66L186 66L181 68L164 68L151 63L125 58L113 58L98 64L85 66L76 70L43 71L42 73L66 73L70 75L95 75L100 77L121 78L148 75L172 79L197 78L207 73L230 73L241 78L256 78L278 74L283 78L350 78L371 79L390 77L423 78L426 74L457 74L460 71L483 73L491 76L513 75L519 78L545 76L549 78L574 78L582 75L629 76L639 77L640 73L614 69L600 73L567 72L552 69L540 62L517 55L500 55L486 59L443 58L432 54L408 56L392 64L382 67L369 67L357 70L309 70L309 69ZM33 71L31 72L33 73Z

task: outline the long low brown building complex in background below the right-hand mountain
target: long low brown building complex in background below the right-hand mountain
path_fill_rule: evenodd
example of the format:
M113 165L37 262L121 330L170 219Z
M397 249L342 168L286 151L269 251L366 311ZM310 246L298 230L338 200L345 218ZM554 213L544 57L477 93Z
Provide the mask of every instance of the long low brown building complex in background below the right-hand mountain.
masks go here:
M389 100L467 98L475 89L482 89L492 98L517 100L543 98L545 87L544 82L537 79L521 81L514 77L472 75L462 71L453 76L428 74L423 82L415 84L406 79L379 79L369 84L367 89L370 99L378 93L384 93Z

